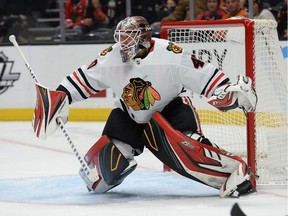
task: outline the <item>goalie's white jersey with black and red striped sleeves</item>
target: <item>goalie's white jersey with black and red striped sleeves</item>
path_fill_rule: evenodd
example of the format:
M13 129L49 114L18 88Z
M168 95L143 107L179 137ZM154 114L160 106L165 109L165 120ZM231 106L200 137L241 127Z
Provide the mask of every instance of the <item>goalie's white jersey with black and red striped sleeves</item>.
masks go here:
M88 67L82 66L61 85L72 101L81 101L111 88L137 123L147 123L156 111L175 99L185 88L210 97L227 80L222 71L203 63L181 47L152 38L153 46L144 59L122 62L118 44L103 50Z

